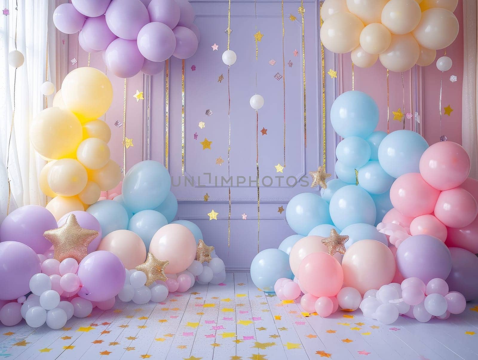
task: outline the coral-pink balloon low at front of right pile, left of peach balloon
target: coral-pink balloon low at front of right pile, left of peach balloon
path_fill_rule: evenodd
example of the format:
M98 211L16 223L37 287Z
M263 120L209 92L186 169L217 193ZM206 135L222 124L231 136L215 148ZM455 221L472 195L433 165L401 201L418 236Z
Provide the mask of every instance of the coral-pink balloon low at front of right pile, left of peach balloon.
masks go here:
M344 272L332 256L325 252L314 252L301 262L298 278L304 289L314 296L335 296L344 282Z

